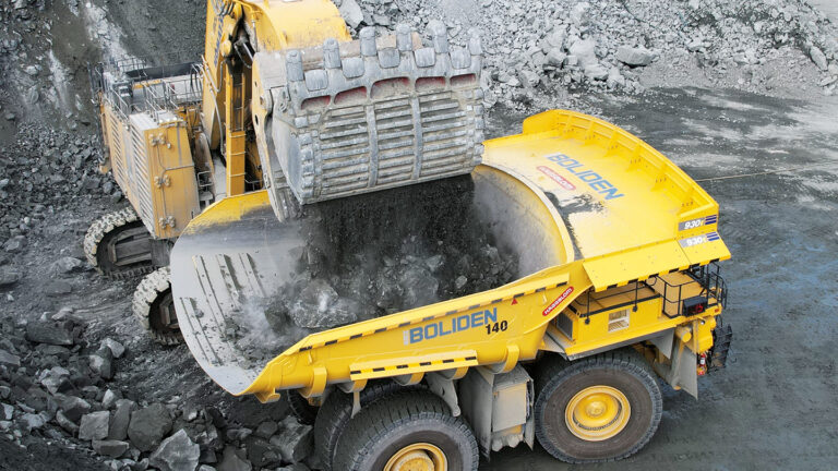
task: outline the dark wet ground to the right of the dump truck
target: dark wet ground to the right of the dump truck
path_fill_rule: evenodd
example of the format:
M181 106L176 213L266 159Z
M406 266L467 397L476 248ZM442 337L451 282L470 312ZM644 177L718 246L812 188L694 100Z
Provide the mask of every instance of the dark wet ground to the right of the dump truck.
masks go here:
M728 367L699 399L665 387L657 434L597 470L835 469L838 458L838 98L782 100L738 92L654 90L587 99L642 136L718 201L733 326ZM510 125L518 117L508 118ZM495 134L504 123L490 121ZM719 179L777 169L793 172ZM807 168L807 169L800 169ZM526 446L486 470L570 469Z

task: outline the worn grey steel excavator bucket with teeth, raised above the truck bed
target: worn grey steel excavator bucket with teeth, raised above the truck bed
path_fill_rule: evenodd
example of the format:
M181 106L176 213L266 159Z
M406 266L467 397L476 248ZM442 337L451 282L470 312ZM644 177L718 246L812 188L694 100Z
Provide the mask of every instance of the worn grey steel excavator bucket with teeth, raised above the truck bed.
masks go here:
M395 35L254 55L256 141L271 202L302 204L470 173L480 162L482 50Z

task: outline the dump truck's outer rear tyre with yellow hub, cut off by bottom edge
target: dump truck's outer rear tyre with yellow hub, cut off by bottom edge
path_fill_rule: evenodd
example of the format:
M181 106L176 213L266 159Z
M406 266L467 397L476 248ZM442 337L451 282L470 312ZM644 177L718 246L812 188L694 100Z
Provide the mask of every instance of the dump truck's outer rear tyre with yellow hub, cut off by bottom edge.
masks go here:
M463 418L428 391L386 396L350 419L332 469L477 471L477 440Z

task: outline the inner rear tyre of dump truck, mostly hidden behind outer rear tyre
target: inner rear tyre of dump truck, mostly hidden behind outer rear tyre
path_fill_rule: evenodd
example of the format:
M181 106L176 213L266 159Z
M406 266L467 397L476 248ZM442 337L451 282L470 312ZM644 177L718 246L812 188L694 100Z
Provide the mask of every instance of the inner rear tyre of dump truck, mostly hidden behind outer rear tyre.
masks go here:
M421 386L400 386L391 379L376 381L361 389L361 407L370 406L390 394L422 390ZM352 396L335 390L318 411L314 419L314 450L323 460L324 471L332 470L335 450L347 422L352 416Z

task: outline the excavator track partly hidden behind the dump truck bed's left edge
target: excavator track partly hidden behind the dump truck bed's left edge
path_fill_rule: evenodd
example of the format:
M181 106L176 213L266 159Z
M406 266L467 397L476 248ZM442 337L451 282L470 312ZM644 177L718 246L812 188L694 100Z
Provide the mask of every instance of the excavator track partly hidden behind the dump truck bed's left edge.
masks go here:
M134 291L132 311L152 339L164 346L183 341L171 298L171 270L158 268L146 275Z

